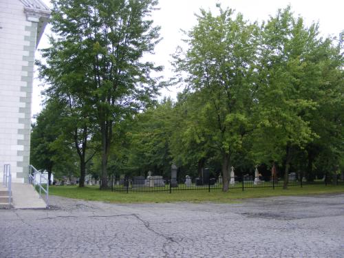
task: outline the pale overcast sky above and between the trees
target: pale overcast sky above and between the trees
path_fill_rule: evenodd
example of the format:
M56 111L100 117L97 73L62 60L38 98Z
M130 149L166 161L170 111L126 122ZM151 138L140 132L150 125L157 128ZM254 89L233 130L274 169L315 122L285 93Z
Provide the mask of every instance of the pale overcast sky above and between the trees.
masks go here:
M43 0L50 6L49 0ZM264 21L270 16L275 16L279 8L286 8L288 4L292 6L292 11L305 19L305 24L319 22L320 32L323 36L338 36L344 30L344 1L343 0L160 0L160 10L155 11L152 19L156 25L161 26L160 34L162 41L155 47L153 61L157 65L164 66L162 75L165 78L171 76L171 54L184 36L180 29L190 30L196 23L195 13L199 13L200 8L217 11L216 3L221 3L222 8L232 8L236 12L244 14L244 18L249 21ZM50 34L49 28L45 30L45 35L39 43L39 48L47 47L46 34ZM38 58L39 55L36 55ZM40 92L38 79L34 79L34 92L32 101L32 114L41 111ZM175 98L180 89L164 89L163 96Z

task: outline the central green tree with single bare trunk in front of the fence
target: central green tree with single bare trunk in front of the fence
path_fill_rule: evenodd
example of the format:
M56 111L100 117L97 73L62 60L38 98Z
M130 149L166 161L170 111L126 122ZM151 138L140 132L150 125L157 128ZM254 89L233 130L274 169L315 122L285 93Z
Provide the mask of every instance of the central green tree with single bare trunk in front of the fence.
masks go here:
M228 191L228 167L252 125L252 87L257 61L259 28L232 10L213 16L201 10L189 32L189 50L175 56L177 71L187 72L188 83L199 99L194 119L204 129L202 141L222 156L223 191Z

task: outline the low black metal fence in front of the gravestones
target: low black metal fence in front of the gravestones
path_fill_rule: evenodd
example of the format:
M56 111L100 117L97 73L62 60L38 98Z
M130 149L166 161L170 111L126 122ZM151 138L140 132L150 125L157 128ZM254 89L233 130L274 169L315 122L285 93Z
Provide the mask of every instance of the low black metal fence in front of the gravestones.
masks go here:
M161 176L151 176L144 178L142 176L133 178L116 179L114 177L109 180L109 187L112 191L120 192L166 192L172 193L175 191L192 191L205 190L215 191L223 188L222 178L191 178L186 177L183 180L178 178L162 178ZM329 177L323 180L314 181L313 184L334 184L334 180ZM262 178L252 176L235 176L228 180L228 189L238 189L245 191L245 189L263 189L263 188L279 188L283 187L283 178ZM287 186L302 187L305 178L299 178L298 175L293 175L288 178ZM336 180L336 184L344 184L343 180Z

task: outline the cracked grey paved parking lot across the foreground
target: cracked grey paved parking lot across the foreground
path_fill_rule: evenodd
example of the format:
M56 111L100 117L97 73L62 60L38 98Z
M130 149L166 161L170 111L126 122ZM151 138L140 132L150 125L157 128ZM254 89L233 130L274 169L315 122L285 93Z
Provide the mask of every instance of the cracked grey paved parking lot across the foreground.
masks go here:
M344 257L344 194L241 204L107 204L51 197L0 210L0 257Z

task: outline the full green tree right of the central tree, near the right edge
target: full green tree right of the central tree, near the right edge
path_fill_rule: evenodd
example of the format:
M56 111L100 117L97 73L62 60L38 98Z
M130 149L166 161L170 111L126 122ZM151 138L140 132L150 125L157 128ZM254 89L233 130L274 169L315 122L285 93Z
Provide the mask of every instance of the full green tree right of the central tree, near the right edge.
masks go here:
M305 28L290 7L263 26L253 152L257 162L284 163L284 188L293 155L319 138L310 120L326 98L323 65L328 59L318 34L316 24Z

